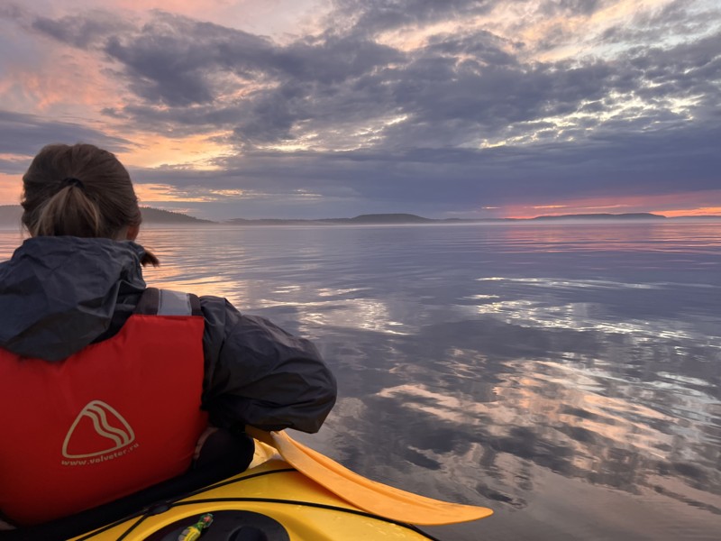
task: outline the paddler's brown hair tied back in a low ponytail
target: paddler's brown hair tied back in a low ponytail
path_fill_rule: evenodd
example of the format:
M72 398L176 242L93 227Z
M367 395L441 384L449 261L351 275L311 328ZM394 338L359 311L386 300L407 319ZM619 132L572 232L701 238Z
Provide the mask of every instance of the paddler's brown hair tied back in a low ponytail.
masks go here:
M109 151L92 144L50 144L23 175L23 225L32 236L114 239L141 225L130 174ZM141 263L158 265L151 252Z

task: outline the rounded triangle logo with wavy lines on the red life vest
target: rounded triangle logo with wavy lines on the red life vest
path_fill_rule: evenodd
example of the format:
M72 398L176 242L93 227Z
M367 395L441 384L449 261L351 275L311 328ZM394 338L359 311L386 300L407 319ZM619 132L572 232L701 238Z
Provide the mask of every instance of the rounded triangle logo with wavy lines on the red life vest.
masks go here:
M105 402L93 400L70 426L62 454L66 458L87 458L112 453L134 440L135 434L123 416Z

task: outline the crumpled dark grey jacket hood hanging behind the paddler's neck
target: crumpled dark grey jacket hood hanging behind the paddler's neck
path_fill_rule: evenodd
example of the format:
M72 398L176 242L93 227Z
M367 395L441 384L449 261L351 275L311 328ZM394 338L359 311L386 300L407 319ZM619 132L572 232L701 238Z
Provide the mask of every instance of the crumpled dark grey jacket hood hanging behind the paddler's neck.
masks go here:
M143 249L130 241L41 236L0 263L0 347L59 361L110 326L118 297L140 293Z

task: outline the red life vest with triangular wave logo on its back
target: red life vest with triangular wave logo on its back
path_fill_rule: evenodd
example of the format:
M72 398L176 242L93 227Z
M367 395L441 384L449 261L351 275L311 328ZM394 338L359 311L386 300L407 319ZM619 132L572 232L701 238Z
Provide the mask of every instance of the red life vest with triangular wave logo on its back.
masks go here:
M139 307L148 311L151 297ZM187 471L207 425L204 318L189 314L135 313L117 335L61 362L0 349L5 517L38 524Z

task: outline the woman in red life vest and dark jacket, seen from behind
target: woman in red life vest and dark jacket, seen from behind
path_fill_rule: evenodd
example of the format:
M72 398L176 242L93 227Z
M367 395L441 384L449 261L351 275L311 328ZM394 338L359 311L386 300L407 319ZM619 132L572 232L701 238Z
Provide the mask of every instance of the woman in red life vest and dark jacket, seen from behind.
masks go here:
M41 524L198 468L222 477L251 460L244 426L323 424L336 382L313 344L224 298L146 286L141 266L159 261L135 243L138 198L114 154L44 147L22 206L30 237L0 263L0 519Z

